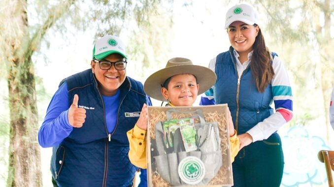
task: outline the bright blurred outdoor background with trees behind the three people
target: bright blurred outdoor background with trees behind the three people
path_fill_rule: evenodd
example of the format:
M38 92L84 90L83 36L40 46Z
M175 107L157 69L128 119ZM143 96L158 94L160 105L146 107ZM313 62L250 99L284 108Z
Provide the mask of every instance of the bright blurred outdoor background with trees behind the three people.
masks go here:
M39 147L37 131L59 82L90 68L97 38L120 36L127 75L144 82L172 57L207 66L227 51L225 13L238 3L257 9L292 82L294 117L278 132L281 186L326 186L317 153L334 148L334 0L0 0L0 186L26 177L14 172L21 160L40 179L29 186L52 187L52 148Z

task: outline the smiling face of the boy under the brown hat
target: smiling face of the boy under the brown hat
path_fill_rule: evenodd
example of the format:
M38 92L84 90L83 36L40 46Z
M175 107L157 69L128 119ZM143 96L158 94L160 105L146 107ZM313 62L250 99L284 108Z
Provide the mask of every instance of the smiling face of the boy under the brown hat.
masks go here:
M168 90L161 88L165 99L175 107L193 106L199 92L200 85L196 78L190 74L180 74L171 77L168 83Z

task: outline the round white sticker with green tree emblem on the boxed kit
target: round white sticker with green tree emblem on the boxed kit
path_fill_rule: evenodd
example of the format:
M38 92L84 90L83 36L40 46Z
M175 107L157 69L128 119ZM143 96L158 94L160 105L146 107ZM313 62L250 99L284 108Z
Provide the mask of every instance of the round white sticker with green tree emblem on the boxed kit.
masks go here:
M204 163L197 157L186 157L179 163L178 174L180 179L186 184L196 185L204 178Z

